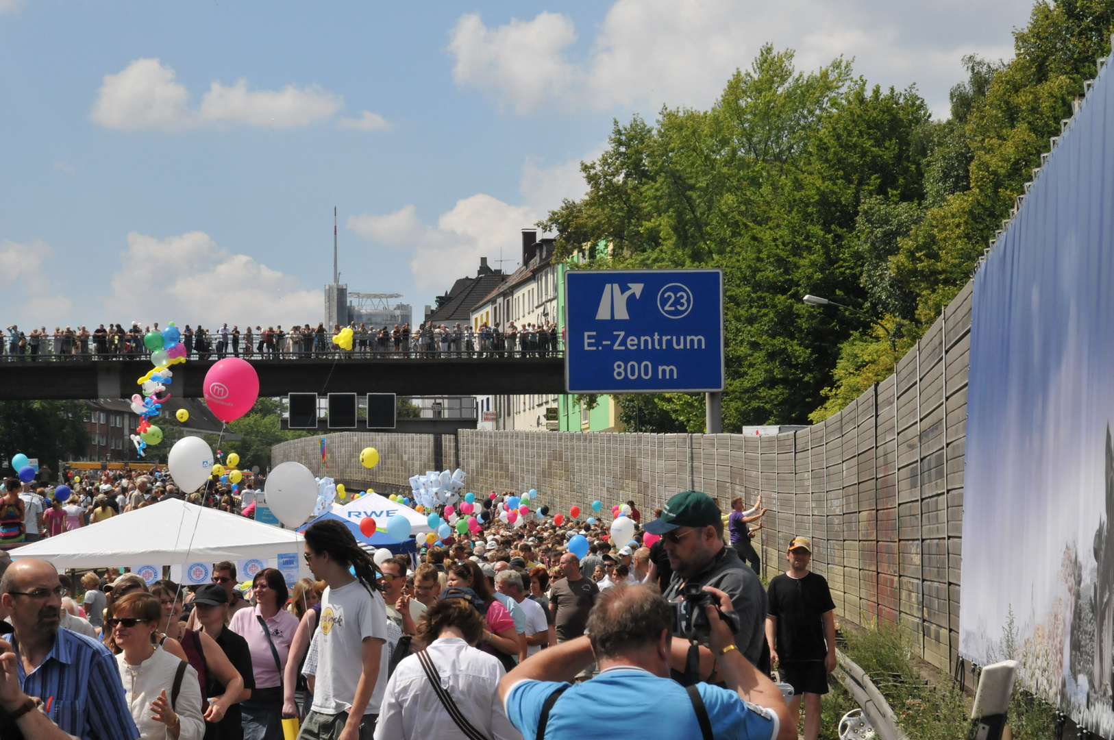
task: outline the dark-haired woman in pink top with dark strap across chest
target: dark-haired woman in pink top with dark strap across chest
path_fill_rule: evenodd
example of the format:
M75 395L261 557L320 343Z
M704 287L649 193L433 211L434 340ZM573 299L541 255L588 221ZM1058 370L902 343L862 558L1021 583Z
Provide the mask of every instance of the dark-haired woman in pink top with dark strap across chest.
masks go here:
M247 641L255 689L241 704L244 740L283 740L283 672L297 617L286 605L286 582L275 568L263 568L252 581L255 607L236 612L228 629Z

